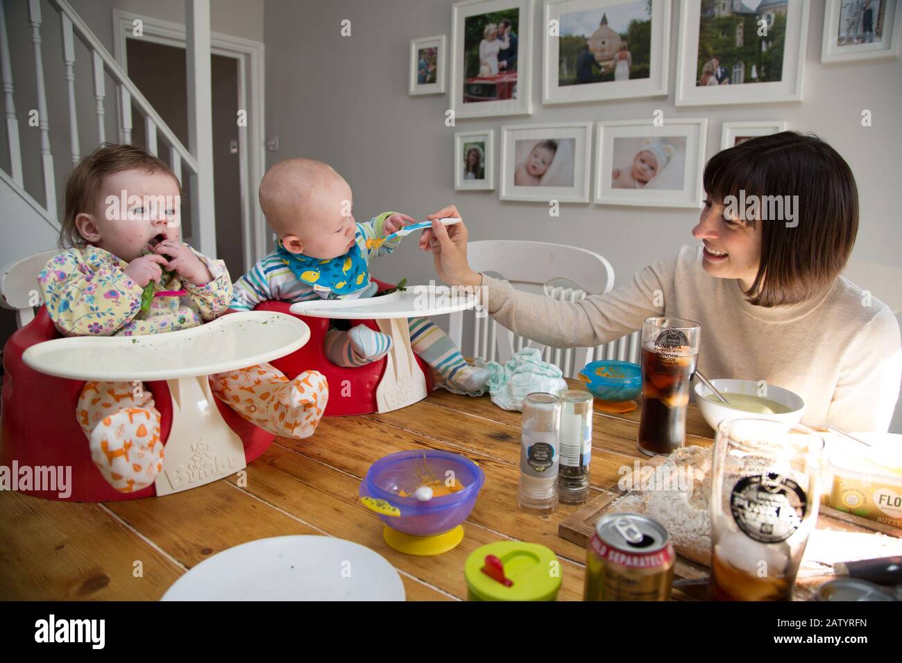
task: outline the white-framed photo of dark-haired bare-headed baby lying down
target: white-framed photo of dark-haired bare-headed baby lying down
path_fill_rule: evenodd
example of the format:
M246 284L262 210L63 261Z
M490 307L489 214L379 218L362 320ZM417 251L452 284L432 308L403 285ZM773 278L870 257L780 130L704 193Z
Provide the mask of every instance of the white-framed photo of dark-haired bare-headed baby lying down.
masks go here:
M502 200L589 202L592 123L502 126Z

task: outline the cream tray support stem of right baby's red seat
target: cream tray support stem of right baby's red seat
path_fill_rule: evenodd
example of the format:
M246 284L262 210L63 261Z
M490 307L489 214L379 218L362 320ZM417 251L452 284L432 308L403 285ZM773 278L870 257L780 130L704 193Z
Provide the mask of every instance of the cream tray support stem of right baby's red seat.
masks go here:
M376 323L382 334L391 336L385 373L382 373L382 381L376 387L376 406L380 412L389 412L422 401L428 396L426 376L410 348L407 318L376 320Z

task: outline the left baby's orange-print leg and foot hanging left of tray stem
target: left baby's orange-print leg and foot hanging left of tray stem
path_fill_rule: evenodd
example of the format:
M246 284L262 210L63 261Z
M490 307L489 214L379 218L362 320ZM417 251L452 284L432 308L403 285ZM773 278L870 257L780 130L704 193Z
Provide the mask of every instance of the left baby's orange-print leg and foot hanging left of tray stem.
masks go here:
M149 486L160 474L160 412L141 382L87 382L78 398L78 424L91 459L120 493Z

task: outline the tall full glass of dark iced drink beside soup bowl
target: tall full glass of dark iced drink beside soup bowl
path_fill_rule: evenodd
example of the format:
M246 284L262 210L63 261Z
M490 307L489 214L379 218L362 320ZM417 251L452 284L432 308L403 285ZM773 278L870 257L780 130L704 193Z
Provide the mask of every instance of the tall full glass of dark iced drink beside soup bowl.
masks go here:
M643 454L669 454L686 443L686 406L700 333L697 322L682 318L648 318L642 325Z

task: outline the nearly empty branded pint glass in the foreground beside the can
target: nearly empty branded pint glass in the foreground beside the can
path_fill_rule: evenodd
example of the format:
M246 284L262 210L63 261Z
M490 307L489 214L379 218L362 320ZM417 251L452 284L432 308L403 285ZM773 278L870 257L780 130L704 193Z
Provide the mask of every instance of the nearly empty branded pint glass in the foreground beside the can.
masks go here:
M820 502L823 438L801 424L717 428L711 482L715 601L789 601Z

